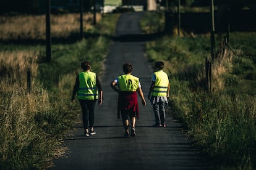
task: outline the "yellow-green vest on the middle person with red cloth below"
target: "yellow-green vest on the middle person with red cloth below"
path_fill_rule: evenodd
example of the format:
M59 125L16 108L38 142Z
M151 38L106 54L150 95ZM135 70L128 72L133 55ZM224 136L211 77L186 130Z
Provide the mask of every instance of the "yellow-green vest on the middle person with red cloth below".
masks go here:
M139 78L129 74L119 76L118 87L120 91L135 92L139 87Z

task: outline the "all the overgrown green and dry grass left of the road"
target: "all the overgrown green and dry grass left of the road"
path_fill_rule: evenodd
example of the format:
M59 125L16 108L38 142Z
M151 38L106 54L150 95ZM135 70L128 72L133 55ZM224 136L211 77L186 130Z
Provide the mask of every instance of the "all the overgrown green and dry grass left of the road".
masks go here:
M51 63L43 62L42 17L0 17L0 169L44 169L65 152L62 137L78 118L70 91L80 62L89 60L93 71L101 71L119 15L97 15L92 26L92 15L85 14L86 37L72 42L67 39L79 34L79 14L53 15L53 39L65 43L53 42Z

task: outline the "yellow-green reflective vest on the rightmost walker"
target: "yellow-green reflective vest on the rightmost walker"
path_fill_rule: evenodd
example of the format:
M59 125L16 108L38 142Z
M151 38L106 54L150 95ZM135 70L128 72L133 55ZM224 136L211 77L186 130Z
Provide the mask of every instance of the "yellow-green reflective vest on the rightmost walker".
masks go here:
M169 79L168 75L163 70L156 71L155 86L152 91L152 96L166 96L168 90Z

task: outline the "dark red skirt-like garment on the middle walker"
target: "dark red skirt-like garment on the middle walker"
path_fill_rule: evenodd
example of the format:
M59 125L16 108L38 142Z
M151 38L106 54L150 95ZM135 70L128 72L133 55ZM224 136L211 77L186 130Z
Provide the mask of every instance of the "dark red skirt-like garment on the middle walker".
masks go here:
M122 111L132 111L136 113L139 118L139 105L137 99L137 92L121 92L118 95L117 103L117 118L120 118Z

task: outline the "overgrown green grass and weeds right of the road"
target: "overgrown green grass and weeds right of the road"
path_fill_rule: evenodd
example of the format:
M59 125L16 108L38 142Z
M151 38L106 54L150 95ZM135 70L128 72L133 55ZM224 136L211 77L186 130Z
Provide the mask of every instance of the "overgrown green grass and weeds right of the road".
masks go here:
M148 18L157 20L159 14L148 13L142 25L150 23ZM208 92L205 58L210 59L210 34L183 33L186 36L179 37L175 32L146 46L150 62L163 60L169 73L171 115L184 123L188 137L210 156L216 168L255 169L256 33L231 33L229 44L234 52L223 48L223 38L216 36L221 48L212 65Z

